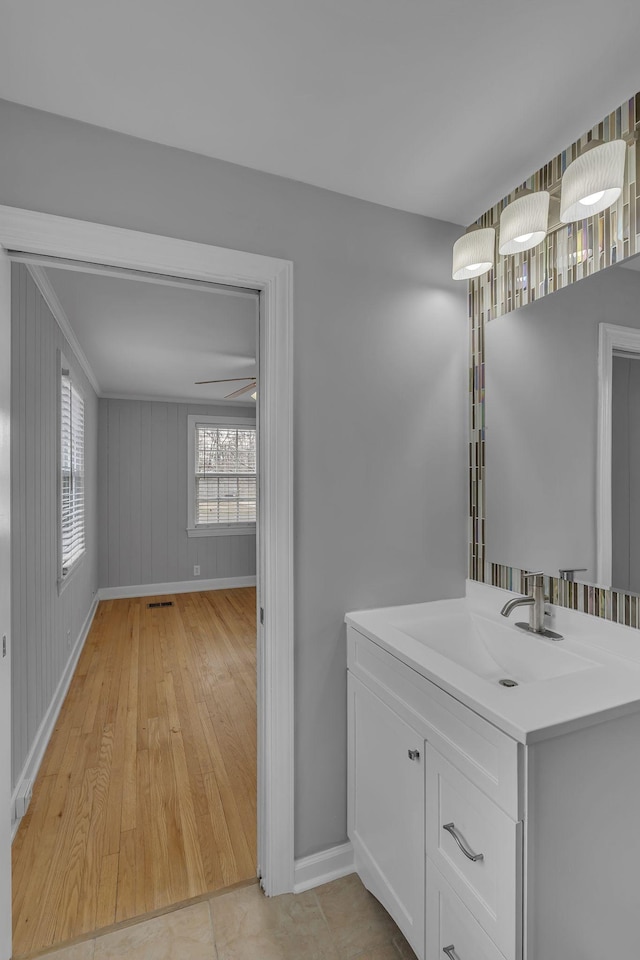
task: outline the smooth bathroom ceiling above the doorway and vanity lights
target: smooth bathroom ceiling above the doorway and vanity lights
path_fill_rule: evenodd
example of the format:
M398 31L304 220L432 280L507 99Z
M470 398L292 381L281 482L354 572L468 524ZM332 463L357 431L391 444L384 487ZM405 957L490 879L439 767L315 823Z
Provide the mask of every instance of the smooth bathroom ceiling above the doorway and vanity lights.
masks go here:
M467 224L640 88L637 0L3 0L0 96Z

